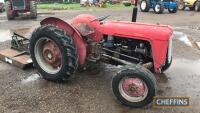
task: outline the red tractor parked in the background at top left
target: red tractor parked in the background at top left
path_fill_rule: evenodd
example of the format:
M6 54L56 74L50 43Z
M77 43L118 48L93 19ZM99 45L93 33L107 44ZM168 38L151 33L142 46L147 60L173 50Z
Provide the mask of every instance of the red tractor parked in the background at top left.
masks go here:
M6 13L8 20L12 20L20 14L29 13L31 18L37 18L37 6L35 0L6 0Z

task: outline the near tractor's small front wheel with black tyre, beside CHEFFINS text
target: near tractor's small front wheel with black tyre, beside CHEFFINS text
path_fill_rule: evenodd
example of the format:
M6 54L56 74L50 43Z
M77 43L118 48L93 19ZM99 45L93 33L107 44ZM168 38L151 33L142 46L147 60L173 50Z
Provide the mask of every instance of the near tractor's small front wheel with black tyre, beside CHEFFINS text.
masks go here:
M154 75L142 66L125 69L112 78L112 90L121 104L140 108L150 104L156 95Z

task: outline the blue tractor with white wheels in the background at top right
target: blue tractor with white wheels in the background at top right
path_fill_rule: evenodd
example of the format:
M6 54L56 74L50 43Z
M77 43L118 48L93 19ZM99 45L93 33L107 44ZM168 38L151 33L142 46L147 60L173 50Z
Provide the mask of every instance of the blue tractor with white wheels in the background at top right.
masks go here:
M173 0L141 0L142 12L148 12L150 8L153 8L156 14L163 13L164 9L168 9L169 13L176 13L178 9L177 3Z

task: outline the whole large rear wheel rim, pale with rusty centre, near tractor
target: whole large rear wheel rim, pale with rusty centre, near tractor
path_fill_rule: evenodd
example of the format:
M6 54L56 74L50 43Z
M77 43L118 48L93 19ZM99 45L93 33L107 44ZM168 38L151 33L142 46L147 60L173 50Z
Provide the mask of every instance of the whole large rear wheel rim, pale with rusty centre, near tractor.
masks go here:
M58 73L62 67L62 55L58 45L47 37L41 37L35 44L35 58L47 73Z

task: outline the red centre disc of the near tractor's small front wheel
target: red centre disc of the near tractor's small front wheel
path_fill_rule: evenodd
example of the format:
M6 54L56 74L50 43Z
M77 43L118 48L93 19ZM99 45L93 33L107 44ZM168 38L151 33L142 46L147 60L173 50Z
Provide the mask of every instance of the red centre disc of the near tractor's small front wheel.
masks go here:
M143 96L145 92L145 86L138 78L126 78L122 82L122 89L131 97Z

